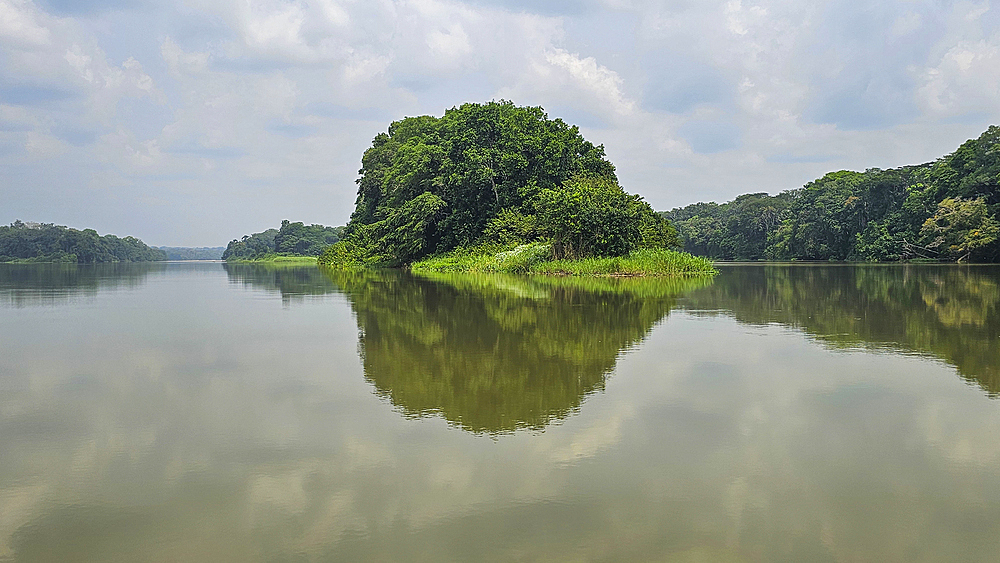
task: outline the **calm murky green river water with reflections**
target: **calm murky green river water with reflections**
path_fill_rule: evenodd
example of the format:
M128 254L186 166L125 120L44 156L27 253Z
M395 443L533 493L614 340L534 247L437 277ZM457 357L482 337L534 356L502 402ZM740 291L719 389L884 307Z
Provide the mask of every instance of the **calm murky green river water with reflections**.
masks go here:
M0 264L0 561L995 561L1000 268Z

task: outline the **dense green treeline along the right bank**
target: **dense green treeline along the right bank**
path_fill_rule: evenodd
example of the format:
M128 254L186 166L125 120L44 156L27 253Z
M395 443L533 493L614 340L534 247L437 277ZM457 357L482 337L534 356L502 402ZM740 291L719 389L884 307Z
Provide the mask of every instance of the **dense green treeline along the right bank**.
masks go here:
M775 196L663 215L684 250L722 260L1000 261L1000 127L934 162L831 172Z

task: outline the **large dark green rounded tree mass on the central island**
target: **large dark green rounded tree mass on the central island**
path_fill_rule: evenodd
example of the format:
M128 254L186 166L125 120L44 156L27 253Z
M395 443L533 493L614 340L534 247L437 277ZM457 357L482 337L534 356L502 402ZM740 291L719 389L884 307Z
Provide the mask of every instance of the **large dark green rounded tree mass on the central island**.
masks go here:
M345 239L389 266L471 246L502 211L533 215L543 190L574 176L617 182L604 148L577 127L507 101L394 122L361 163ZM399 230L411 224L419 229Z

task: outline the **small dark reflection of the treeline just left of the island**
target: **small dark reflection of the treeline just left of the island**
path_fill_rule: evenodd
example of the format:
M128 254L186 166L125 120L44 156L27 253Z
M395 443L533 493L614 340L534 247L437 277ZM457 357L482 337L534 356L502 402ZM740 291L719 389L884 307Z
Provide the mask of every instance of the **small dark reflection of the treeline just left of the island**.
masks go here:
M285 302L337 292L337 286L313 265L226 262L222 267L230 283L280 293Z

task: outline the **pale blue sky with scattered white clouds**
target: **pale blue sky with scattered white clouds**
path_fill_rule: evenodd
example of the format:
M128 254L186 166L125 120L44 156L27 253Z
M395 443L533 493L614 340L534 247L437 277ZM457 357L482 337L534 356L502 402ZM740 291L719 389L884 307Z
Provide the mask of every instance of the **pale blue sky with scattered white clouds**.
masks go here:
M579 125L655 209L773 194L1000 123L1000 6L0 0L0 223L342 225L376 134L497 99Z

